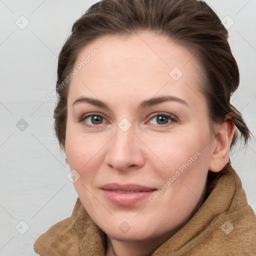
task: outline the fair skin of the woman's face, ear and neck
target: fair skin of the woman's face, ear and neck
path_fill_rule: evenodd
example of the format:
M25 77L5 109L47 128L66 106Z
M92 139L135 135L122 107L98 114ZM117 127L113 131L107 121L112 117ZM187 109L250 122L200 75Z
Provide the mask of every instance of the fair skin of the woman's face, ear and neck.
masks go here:
M188 221L208 170L220 171L228 162L234 126L225 121L211 131L206 99L199 92L202 71L183 46L146 31L103 36L79 52L76 64L94 48L98 54L72 78L67 98L65 153L70 169L80 175L74 187L107 234L107 256L151 255ZM178 80L169 75L173 67L183 72ZM165 101L138 109L140 101L165 95L189 106ZM110 109L87 102L72 106L81 96L102 100ZM98 124L91 116L78 121L95 112L103 115ZM177 121L165 117L162 124L159 112ZM126 131L118 126L123 118L131 124ZM134 205L115 205L100 190L109 182L161 189L196 151L200 156L153 202L145 198ZM123 221L130 226L126 233L118 228Z

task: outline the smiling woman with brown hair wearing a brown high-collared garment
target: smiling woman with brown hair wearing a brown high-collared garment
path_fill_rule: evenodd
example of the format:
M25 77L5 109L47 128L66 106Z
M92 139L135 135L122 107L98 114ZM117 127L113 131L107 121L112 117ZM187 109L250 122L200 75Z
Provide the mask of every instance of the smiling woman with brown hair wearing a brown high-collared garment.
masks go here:
M229 150L250 132L227 30L196 0L102 0L58 58L55 131L78 198L40 255L255 255Z

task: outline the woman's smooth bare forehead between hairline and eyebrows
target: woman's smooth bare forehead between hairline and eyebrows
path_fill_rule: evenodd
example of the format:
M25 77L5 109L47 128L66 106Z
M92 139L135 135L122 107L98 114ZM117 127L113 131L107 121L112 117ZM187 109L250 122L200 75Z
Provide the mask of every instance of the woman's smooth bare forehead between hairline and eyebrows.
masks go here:
M69 90L73 99L91 92L116 95L116 90L126 96L136 91L148 97L159 90L162 94L171 90L174 96L191 94L191 89L198 90L201 73L192 52L147 31L101 36L82 48L74 67L78 72Z

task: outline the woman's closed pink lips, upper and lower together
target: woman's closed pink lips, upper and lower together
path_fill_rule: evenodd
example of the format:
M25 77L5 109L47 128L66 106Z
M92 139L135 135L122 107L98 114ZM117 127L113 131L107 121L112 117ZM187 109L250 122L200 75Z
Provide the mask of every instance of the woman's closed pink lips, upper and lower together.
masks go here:
M138 184L108 183L101 187L104 197L113 204L132 205L147 198L156 190Z

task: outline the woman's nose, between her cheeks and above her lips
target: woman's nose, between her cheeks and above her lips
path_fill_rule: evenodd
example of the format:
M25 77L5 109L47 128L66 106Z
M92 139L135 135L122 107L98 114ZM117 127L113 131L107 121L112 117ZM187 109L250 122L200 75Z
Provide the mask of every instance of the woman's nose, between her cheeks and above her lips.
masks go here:
M133 126L126 131L117 126L115 131L115 135L107 143L106 164L120 171L141 167L144 164L143 145L133 134Z

